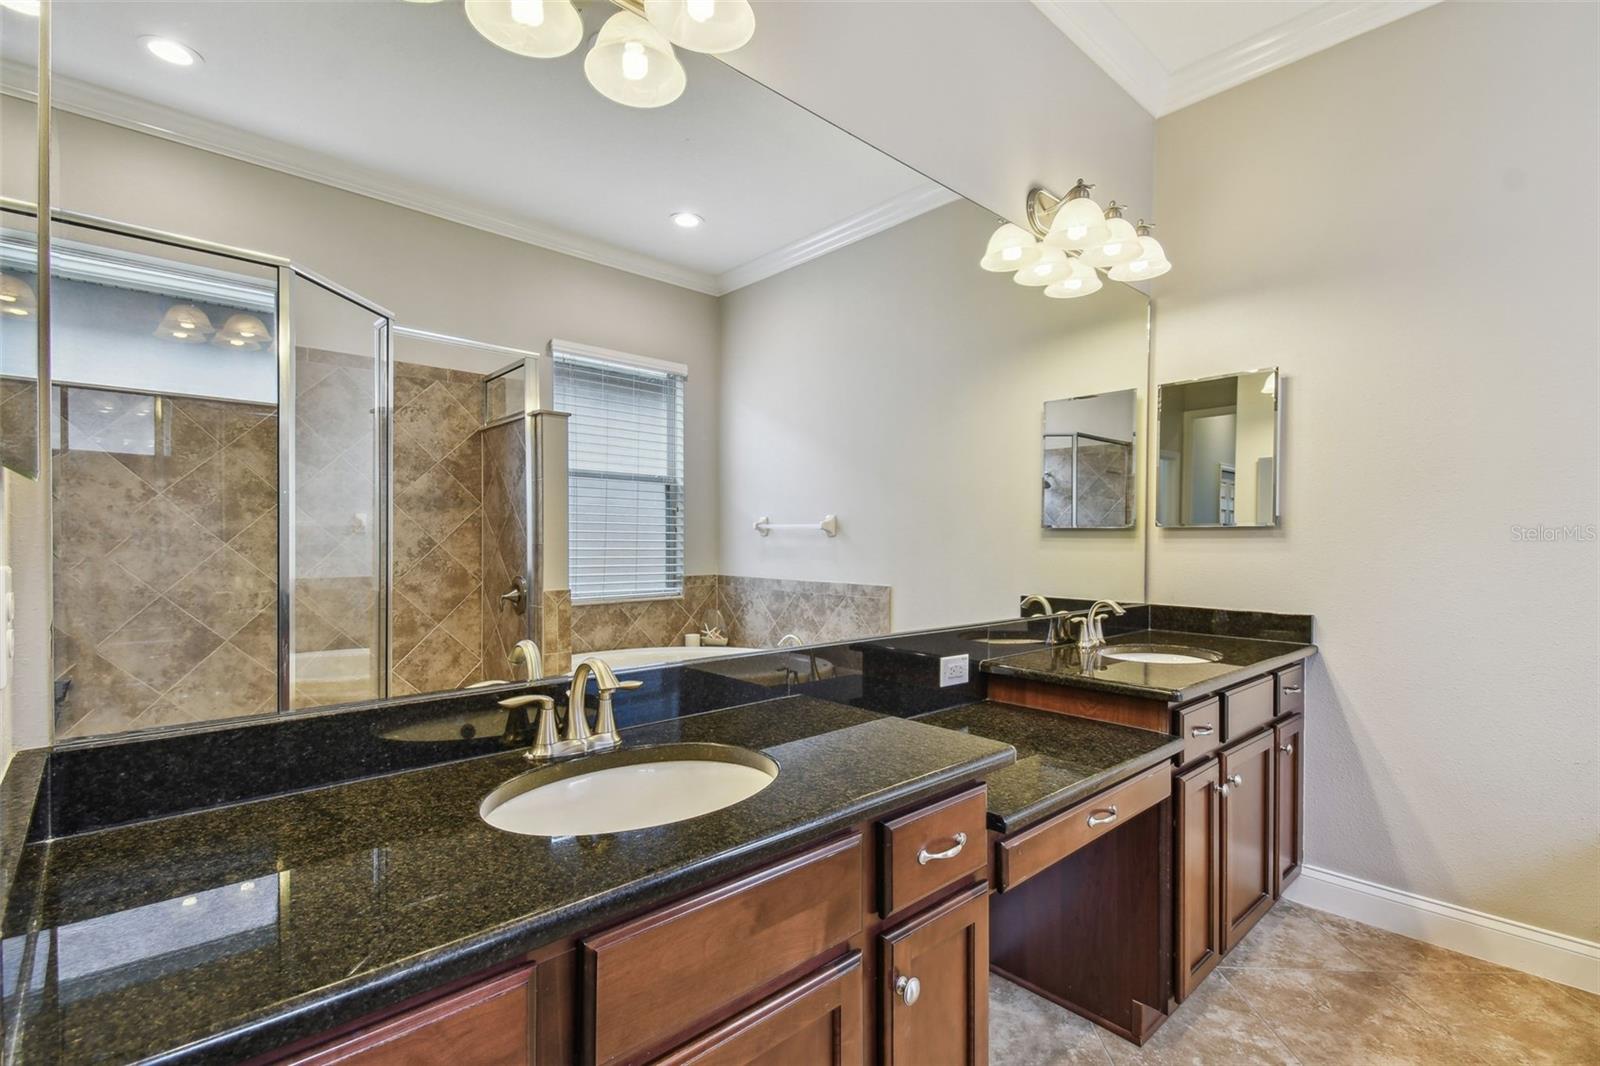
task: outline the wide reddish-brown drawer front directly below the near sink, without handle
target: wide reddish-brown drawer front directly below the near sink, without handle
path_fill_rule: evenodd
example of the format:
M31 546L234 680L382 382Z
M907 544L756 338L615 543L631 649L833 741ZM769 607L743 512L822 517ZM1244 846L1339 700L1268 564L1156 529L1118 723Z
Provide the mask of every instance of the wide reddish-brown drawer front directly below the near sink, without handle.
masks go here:
M704 1031L861 932L861 834L584 938L589 1061Z

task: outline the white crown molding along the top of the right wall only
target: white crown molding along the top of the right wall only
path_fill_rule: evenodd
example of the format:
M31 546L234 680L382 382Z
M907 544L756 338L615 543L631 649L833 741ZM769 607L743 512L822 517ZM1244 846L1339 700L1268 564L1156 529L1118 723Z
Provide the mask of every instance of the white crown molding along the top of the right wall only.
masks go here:
M1216 96L1435 3L1438 0L1323 3L1264 34L1174 70L1166 85L1166 110L1162 114Z

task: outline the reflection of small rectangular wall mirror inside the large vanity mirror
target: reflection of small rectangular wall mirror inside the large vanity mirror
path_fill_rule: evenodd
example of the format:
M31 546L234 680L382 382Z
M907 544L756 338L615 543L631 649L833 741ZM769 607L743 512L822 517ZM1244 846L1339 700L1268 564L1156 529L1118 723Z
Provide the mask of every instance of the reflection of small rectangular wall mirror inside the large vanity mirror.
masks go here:
M1045 405L1046 530L1126 530L1136 511L1138 391Z

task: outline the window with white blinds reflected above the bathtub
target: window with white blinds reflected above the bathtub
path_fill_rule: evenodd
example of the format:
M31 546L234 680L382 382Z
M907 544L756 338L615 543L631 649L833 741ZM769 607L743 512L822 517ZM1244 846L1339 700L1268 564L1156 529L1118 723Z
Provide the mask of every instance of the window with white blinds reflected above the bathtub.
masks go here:
M555 351L574 603L683 594L683 376Z

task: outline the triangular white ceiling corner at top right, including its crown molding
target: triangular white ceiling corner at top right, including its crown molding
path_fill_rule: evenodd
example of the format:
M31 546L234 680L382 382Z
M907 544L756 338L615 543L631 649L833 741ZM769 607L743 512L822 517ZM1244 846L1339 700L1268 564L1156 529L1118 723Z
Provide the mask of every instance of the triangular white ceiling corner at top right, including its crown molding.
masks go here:
M1034 0L1152 115L1165 115L1438 0Z

